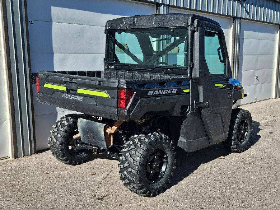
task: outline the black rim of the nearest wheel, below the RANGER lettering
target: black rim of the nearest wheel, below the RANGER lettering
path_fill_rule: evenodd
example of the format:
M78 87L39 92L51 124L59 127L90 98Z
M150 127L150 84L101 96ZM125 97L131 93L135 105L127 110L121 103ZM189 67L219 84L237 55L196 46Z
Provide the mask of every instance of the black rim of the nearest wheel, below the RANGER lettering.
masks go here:
M162 179L166 172L168 157L165 150L157 148L153 150L145 165L146 178L151 183Z

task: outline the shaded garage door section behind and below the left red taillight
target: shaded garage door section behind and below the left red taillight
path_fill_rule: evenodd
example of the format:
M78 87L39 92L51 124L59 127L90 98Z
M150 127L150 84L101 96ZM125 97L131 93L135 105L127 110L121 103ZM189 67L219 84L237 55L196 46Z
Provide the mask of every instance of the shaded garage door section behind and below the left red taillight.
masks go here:
M52 114L56 112L65 112L69 111L63 108L59 108L56 106L51 106L47 104L41 104L37 99L36 99L36 85L32 86L32 91L33 91L33 98L34 98L34 115L42 115L42 114Z

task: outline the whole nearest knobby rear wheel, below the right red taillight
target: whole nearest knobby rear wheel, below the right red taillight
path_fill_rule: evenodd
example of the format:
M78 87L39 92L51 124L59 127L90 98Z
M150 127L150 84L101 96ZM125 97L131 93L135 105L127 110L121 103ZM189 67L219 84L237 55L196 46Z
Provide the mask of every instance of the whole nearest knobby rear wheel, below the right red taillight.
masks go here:
M176 161L173 142L162 133L135 135L120 157L120 179L136 194L153 197L166 188Z

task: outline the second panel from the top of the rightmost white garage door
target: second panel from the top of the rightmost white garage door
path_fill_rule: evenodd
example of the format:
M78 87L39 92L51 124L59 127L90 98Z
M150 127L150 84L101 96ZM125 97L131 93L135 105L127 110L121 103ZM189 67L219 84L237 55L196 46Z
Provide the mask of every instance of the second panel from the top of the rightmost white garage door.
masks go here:
M276 41L240 39L240 55L274 55Z

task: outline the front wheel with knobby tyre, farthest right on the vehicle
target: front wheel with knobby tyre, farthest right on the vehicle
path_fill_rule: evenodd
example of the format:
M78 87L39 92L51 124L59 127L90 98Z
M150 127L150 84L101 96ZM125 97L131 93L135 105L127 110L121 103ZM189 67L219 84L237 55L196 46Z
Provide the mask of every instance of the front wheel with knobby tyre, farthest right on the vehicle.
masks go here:
M233 109L229 135L224 142L227 150L232 152L244 152L248 149L253 132L253 120L249 111Z

